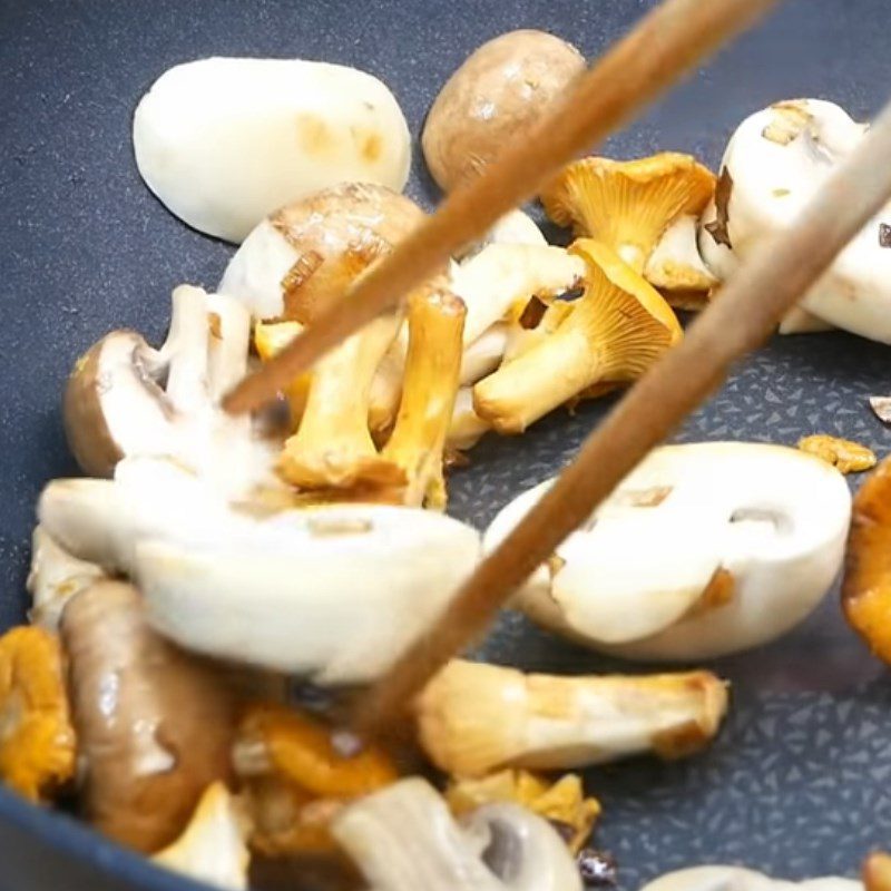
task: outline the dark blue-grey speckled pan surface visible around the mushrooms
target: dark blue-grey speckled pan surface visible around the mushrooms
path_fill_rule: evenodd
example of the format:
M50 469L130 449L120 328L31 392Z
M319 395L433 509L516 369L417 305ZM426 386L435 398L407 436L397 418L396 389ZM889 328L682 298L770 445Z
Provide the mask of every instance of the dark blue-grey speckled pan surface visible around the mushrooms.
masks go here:
M154 78L215 53L345 62L390 85L417 135L440 85L483 40L544 28L595 57L650 6L0 0L0 624L23 616L36 495L74 470L59 418L71 362L110 327L160 335L170 288L213 286L231 253L168 215L139 180L130 116ZM889 26L887 0L791 0L608 150L681 149L715 165L745 115L803 95L866 117L891 84ZM420 153L410 192L435 202ZM834 333L777 339L736 370L679 439L794 443L829 432L884 453L891 431L865 399L889 390L889 347ZM557 412L521 439L487 440L452 480L452 510L487 522L557 471L610 404ZM606 667L516 616L486 650L537 669ZM779 644L715 667L733 682L733 708L709 752L588 777L604 801L600 842L618 856L623 887L709 861L789 878L854 874L870 848L891 844L891 678L846 630L835 598ZM67 817L0 793L0 891L187 887Z

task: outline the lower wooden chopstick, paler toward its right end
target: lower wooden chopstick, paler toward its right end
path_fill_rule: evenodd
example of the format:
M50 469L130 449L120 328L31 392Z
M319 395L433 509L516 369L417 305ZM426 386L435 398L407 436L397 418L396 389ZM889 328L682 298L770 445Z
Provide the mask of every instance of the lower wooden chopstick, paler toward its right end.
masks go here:
M721 385L731 365L771 335L786 311L891 196L889 157L891 105L797 224L753 254L681 344L588 437L575 461L479 565L430 631L360 701L360 732L373 735L394 722L640 459ZM875 239L878 244L878 226Z

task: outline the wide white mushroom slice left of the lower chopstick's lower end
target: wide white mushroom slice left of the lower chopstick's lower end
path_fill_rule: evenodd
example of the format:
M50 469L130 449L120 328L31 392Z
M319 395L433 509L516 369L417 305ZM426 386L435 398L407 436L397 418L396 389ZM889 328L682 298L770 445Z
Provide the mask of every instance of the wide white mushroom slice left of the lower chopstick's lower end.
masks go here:
M136 577L154 627L187 649L363 683L429 627L479 549L474 529L442 515L342 505L197 545L143 540Z

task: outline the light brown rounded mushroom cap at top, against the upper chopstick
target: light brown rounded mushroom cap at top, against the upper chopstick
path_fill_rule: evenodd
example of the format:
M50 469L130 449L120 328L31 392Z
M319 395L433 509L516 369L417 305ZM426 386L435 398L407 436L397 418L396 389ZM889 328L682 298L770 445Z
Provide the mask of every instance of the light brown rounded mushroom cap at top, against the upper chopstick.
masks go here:
M500 35L449 78L421 134L427 166L449 192L478 175L585 70L579 51L545 31Z

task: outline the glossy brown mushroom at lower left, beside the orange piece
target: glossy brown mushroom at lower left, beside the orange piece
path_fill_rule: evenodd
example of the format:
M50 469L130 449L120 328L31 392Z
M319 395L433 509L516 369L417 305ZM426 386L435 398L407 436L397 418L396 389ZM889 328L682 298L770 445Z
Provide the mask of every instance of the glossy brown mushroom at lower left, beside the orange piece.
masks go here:
M231 774L228 689L149 628L139 594L121 581L71 600L61 636L87 815L109 838L158 851Z

